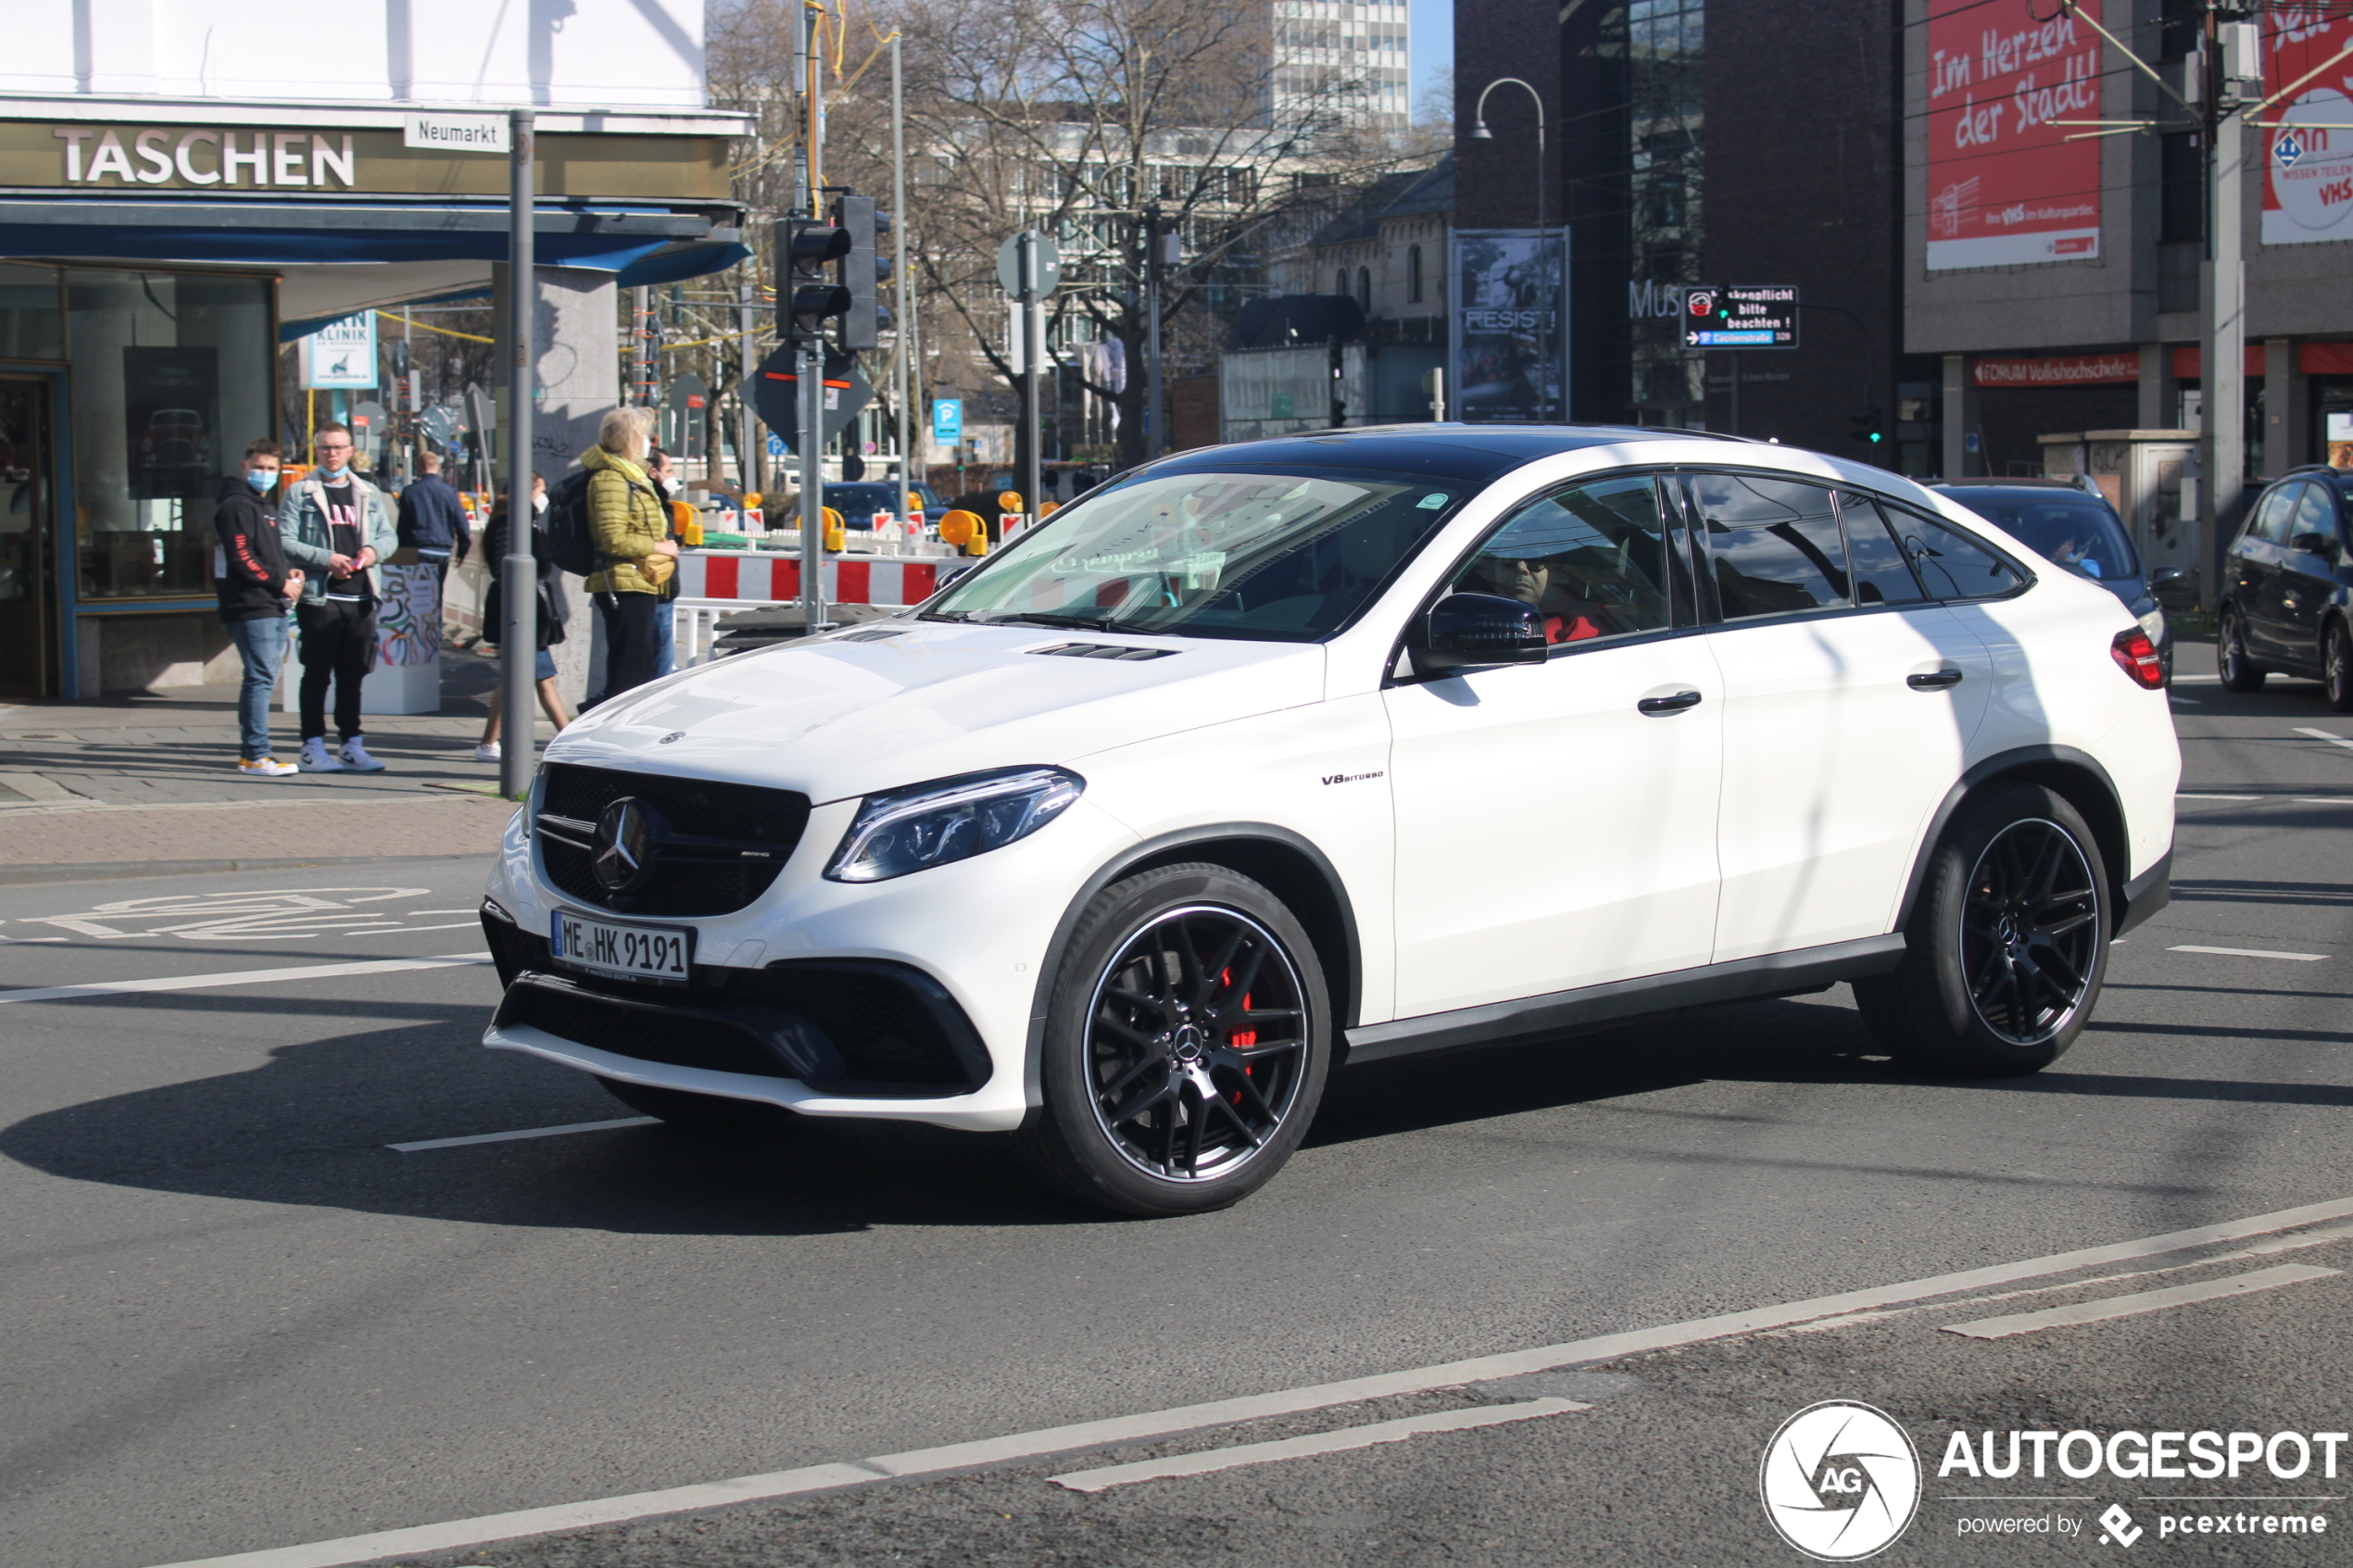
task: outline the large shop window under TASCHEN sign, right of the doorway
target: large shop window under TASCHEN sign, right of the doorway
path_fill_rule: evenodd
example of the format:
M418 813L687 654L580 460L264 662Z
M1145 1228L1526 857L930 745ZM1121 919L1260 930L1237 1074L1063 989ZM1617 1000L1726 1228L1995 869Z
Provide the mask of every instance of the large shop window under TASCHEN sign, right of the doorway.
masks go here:
M66 270L80 597L212 592L212 508L271 435L259 277Z

